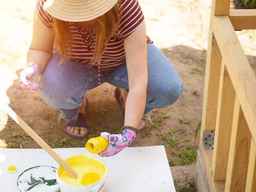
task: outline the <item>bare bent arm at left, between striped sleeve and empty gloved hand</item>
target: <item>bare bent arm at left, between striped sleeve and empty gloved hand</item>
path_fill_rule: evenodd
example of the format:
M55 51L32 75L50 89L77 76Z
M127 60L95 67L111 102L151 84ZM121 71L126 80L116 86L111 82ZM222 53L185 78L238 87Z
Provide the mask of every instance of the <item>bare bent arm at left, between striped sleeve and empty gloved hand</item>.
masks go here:
M43 74L47 63L52 57L53 43L52 28L46 27L35 11L33 37L27 53L27 65L35 63L40 69L40 74Z

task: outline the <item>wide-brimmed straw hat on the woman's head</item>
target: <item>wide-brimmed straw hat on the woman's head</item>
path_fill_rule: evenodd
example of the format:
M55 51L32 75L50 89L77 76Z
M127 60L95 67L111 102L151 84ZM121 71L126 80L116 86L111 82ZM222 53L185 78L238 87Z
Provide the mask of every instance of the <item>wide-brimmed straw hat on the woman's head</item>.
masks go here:
M88 21L102 16L118 0L47 0L43 8L54 18L78 22Z

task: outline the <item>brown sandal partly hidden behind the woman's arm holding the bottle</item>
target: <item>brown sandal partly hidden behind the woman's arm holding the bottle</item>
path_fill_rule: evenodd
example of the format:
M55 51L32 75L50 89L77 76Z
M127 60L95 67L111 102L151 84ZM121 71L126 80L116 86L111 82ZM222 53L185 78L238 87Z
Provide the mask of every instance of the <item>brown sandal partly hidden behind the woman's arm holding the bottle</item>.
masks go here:
M123 99L123 96L127 96L127 93L124 93L123 95L120 93L120 88L116 88L115 89L115 98L117 100L117 103L119 104L119 106L121 107L121 122L124 124L124 115L125 115L125 100ZM142 129L144 129L145 127L145 119L144 119L144 115L139 123L139 127L138 129L141 131Z

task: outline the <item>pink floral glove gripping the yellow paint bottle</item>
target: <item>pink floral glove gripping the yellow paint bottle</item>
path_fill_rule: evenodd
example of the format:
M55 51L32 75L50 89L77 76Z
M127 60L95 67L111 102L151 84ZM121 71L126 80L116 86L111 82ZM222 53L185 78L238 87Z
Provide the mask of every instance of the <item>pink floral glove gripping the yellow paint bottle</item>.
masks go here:
M122 134L110 134L107 132L102 132L101 136L108 140L108 148L99 153L100 156L113 156L123 150L125 147L128 147L133 139L136 137L136 134L132 131L123 130Z

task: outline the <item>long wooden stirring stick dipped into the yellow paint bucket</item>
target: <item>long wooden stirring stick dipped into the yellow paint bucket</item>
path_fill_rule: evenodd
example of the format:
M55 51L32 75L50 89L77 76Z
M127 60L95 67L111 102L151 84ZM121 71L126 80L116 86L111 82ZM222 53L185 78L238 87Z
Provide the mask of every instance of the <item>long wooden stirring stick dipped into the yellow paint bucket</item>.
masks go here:
M56 154L52 148L43 141L43 139L31 129L6 103L0 99L0 107L31 136L38 145L40 145L52 158L57 161L74 179L77 179L77 173L61 157Z

